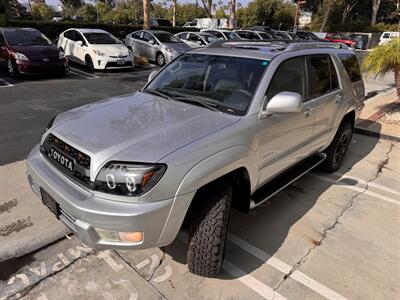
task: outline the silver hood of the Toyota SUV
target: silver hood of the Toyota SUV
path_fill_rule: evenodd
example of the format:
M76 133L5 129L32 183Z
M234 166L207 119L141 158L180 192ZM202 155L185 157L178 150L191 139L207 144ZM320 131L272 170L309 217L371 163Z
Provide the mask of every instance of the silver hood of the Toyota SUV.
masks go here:
M157 162L238 120L238 116L137 92L65 112L49 132L90 155L95 172L110 160Z

